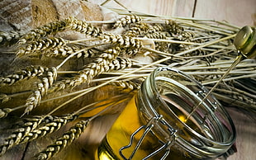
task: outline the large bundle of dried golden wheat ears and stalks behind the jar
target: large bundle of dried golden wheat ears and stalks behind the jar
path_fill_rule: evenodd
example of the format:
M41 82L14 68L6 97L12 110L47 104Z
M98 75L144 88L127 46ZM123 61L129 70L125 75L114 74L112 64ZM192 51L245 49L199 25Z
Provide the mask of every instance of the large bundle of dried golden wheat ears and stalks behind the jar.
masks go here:
M120 113L117 104L125 104L154 68L178 68L211 89L237 56L239 28L228 23L115 12L121 16L115 21L53 18L27 32L0 32L0 56L7 58L1 61L0 118L15 128L3 134L2 157L73 125L40 153L20 147L22 158L54 157L99 115ZM63 31L83 38L69 39ZM213 91L217 99L255 114L255 66L253 59L239 63Z

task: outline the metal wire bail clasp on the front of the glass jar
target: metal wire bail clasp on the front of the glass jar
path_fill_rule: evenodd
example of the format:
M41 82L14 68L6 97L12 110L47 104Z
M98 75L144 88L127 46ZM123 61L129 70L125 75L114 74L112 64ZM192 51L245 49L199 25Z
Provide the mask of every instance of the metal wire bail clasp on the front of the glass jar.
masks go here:
M154 116L151 120L149 120L147 125L142 125L140 126L140 128L136 129L135 132L133 134L130 135L130 143L124 147L121 147L119 149L119 154L121 155L121 158L125 159L125 160L130 160L134 157L135 153L137 152L137 150L140 148L140 144L142 144L143 140L145 139L145 136L149 133L149 131L151 131L152 128L154 128L154 125L156 123L162 123L162 125L167 125L168 127L170 127L167 122L164 120L163 115L159 115L159 116ZM135 134L138 134L140 132L141 129L145 129L144 133L141 135L140 140L138 141L138 143L135 145L134 150L130 153L130 157L126 158L126 156L122 153L123 150L130 148L131 145L133 144L134 141L134 137ZM173 129L169 129L169 130L173 130ZM158 148L157 150L155 150L153 153L150 153L148 156L146 156L145 158L143 158L143 160L148 159L153 157L154 155L156 155L157 153L159 153L162 150L166 150L163 157L161 158L161 160L164 160L167 156L168 153L170 152L170 146L173 145L173 142L175 141L175 133L176 130L173 130L173 132L171 133L171 137L174 137L172 140L169 140L167 143L163 143L161 142L161 144L163 144L162 147Z

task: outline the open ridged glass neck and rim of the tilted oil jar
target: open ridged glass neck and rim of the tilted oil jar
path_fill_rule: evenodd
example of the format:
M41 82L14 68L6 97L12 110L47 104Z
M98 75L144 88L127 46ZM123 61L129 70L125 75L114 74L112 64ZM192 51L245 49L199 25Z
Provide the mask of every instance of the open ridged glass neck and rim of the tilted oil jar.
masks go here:
M235 126L220 103L210 96L189 123L184 121L206 92L178 70L157 68L145 79L135 101L144 123L163 117L154 123L152 133L164 144L175 141L193 156L216 158L235 142Z

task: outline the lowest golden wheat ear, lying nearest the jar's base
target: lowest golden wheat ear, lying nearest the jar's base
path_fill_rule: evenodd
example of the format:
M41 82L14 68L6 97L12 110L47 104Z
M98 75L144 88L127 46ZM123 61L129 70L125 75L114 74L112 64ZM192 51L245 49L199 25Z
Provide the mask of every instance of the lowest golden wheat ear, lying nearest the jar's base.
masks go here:
M52 158L56 153L59 153L63 148L66 148L73 140L78 139L78 137L83 133L83 130L88 126L88 120L81 120L76 125L71 127L63 136L55 140L54 144L51 144L45 148L42 152L38 153L37 159L49 159Z

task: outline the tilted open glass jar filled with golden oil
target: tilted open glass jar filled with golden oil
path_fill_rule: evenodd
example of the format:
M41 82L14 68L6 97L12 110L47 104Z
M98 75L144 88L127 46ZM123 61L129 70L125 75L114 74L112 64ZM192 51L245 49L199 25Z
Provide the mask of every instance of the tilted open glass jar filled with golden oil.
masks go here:
M207 92L176 69L155 69L112 125L96 159L201 159L227 153L235 126L215 97L200 103Z

